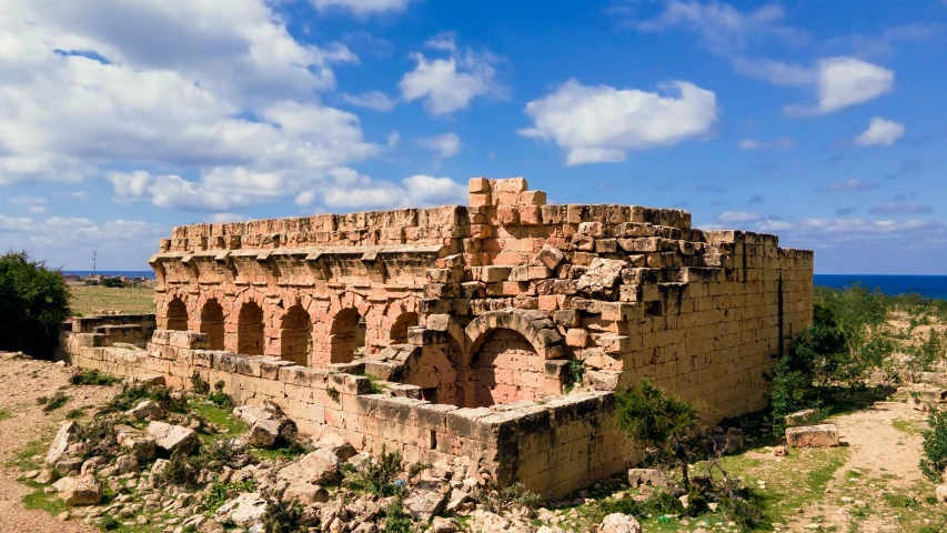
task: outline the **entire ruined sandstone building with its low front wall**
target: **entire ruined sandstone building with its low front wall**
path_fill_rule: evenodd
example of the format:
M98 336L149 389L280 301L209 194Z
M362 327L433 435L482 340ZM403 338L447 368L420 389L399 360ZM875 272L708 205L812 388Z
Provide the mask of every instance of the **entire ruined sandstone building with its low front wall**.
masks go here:
M147 349L77 326L73 363L198 372L357 449L463 455L554 495L627 465L612 391L651 376L721 415L760 409L812 321L809 251L679 210L546 205L522 178L472 179L467 207L197 224L160 247Z

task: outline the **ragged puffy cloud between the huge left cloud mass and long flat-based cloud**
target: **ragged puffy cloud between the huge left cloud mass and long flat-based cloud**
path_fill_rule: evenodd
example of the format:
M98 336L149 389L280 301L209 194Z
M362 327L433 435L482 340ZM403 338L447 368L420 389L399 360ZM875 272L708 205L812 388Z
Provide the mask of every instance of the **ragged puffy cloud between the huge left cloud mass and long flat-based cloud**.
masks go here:
M429 60L423 53L413 53L417 66L397 83L404 100L422 100L431 114L450 114L477 97L505 97L494 68L500 59L492 53L462 51L452 34L437 36L425 46L450 56Z

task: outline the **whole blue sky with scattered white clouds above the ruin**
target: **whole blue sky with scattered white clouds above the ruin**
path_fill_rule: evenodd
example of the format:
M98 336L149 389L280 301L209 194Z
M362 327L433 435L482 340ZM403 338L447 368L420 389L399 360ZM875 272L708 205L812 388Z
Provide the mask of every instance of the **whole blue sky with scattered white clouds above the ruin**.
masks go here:
M947 1L11 0L0 34L0 247L69 270L474 175L947 264Z

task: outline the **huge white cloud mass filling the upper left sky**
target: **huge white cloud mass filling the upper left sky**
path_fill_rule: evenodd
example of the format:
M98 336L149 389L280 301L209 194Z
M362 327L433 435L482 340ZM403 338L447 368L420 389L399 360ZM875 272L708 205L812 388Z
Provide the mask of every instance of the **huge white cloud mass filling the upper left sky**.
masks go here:
M10 2L0 185L80 181L121 161L139 172L105 173L118 200L226 211L382 151L314 92L354 54L295 41L265 0Z

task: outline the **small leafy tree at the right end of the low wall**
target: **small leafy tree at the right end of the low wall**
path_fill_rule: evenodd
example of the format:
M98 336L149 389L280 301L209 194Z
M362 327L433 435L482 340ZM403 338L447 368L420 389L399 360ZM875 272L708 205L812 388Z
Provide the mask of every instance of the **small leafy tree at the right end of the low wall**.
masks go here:
M701 418L689 402L664 394L651 380L642 380L616 395L618 428L643 445L656 463L681 467L684 489L691 489L687 442L701 432Z

